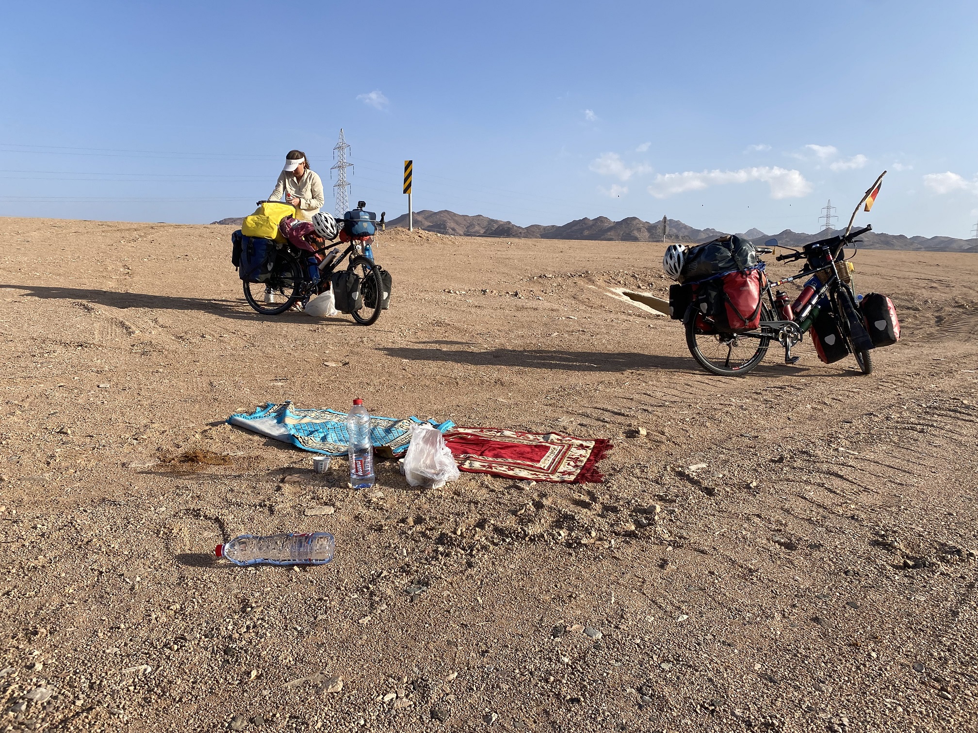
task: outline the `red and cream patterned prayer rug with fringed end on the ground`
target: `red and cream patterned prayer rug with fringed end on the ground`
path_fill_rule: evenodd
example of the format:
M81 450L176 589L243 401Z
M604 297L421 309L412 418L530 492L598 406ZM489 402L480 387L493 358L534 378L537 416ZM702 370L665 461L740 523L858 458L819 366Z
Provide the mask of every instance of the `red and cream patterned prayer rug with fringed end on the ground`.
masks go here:
M568 484L603 481L597 464L611 450L603 438L499 428L454 427L445 433L445 445L463 471Z

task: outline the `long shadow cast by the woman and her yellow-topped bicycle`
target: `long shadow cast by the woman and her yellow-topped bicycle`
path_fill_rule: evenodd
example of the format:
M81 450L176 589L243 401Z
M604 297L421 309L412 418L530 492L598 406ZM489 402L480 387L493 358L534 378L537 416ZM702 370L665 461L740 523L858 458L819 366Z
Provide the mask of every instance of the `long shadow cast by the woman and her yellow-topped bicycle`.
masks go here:
M42 300L81 300L109 308L147 308L167 311L194 311L211 313L220 318L235 321L275 321L276 323L321 323L325 319L310 319L301 313L283 313L278 316L263 316L251 310L242 300L220 298L190 298L173 295L151 295L139 292L119 292L117 290L96 290L81 287L57 287L52 285L15 285L0 282L0 290L26 290L24 297ZM344 323L345 320L330 319L330 322ZM348 323L348 322L347 322Z

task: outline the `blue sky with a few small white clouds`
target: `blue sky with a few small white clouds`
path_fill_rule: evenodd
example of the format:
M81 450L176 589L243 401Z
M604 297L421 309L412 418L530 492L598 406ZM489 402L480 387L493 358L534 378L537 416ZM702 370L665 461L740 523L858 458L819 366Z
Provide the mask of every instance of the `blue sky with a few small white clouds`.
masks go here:
M50 2L4 6L0 215L244 216L286 152L350 199L526 226L767 234L978 223L978 3ZM333 178L331 178L333 174Z

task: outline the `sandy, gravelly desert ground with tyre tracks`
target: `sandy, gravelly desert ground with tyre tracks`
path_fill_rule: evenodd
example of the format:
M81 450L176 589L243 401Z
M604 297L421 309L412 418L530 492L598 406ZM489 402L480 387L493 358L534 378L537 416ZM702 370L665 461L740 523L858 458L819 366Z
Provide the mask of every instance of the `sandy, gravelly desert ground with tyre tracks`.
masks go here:
M612 297L662 244L388 231L364 327L252 312L232 229L0 219L0 730L978 727L978 255L859 254L869 376L722 378ZM356 492L225 424L355 397L609 438L606 479ZM333 562L213 556L285 531Z

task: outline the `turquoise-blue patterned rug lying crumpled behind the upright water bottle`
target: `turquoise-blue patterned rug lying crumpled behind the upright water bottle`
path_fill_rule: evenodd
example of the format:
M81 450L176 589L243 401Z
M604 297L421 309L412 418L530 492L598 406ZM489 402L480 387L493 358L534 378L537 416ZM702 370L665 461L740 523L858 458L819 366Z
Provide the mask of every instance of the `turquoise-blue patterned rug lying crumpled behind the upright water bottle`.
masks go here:
M425 421L418 417L377 417L371 415L371 441L379 453L403 455L411 443L412 425ZM269 403L251 414L233 414L228 424L291 443L293 446L326 455L346 455L350 437L346 432L346 412L339 410L300 410L290 402ZM452 420L427 424L444 433L455 427Z

